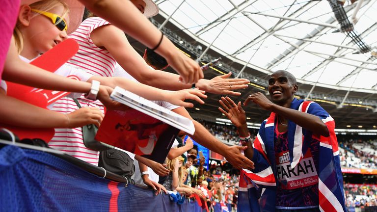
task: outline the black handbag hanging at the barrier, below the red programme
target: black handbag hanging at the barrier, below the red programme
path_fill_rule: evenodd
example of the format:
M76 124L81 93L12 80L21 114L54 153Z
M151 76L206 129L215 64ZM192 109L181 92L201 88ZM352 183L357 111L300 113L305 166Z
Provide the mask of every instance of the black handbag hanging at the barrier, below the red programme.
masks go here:
M117 149L100 152L98 166L124 177L131 177L135 173L134 160L127 153Z

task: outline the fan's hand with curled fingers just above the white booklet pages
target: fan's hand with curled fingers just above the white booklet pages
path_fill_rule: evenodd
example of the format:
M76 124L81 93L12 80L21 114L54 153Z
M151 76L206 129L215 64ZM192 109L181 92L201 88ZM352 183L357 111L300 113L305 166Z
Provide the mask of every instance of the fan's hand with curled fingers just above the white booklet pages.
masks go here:
M184 89L179 91L168 92L166 95L166 101L177 106L193 107L194 104L184 102L186 99L195 100L200 104L204 104L204 101L200 98L207 98L205 91L199 89Z

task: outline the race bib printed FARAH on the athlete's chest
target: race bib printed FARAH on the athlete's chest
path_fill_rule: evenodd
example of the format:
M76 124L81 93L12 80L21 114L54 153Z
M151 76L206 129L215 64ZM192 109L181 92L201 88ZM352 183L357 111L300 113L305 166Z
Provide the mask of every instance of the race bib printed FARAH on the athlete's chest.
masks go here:
M290 190L318 184L317 170L309 150L294 169L291 168L289 151L277 153L276 175L282 189Z

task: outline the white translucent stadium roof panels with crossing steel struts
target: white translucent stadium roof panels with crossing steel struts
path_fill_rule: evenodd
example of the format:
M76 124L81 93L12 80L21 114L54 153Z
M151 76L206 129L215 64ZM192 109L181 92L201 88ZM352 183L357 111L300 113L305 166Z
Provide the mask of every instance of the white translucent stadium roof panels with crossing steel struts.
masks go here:
M359 1L343 6L349 22ZM327 0L156 2L160 14L196 41L262 73L282 69L301 83L376 93L376 0L361 3L353 28L367 53L342 32Z

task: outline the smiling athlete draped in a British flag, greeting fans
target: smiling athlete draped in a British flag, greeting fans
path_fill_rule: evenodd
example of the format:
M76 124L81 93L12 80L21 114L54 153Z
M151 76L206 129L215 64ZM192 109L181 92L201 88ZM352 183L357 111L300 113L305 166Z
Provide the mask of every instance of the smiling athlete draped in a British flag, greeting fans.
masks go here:
M241 102L220 100L219 110L238 128L245 156L255 163L241 174L241 211L346 211L335 122L317 103L294 98L297 89L291 73L277 71L269 78L272 102L260 92L248 96L244 106L253 102L271 111L254 142Z

